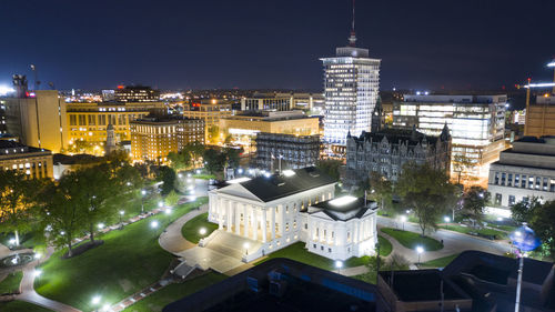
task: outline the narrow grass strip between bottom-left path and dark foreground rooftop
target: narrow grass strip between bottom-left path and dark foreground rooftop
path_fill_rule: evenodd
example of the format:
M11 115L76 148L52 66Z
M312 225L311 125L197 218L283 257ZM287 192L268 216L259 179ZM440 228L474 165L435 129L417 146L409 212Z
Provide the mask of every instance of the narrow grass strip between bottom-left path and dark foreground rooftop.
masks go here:
M162 311L162 309L176 300L195 293L204 288L215 284L226 276L220 273L210 272L205 275L194 278L180 284L168 285L160 291L147 296L135 304L125 309L125 312Z

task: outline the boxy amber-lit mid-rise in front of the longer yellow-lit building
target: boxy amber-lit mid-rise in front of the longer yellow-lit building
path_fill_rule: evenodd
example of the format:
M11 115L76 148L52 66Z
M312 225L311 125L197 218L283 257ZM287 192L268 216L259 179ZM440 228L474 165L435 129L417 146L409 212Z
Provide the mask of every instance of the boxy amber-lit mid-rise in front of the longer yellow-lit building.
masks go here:
M134 161L167 163L170 152L188 143L204 143L204 121L200 119L147 117L131 121L130 129Z

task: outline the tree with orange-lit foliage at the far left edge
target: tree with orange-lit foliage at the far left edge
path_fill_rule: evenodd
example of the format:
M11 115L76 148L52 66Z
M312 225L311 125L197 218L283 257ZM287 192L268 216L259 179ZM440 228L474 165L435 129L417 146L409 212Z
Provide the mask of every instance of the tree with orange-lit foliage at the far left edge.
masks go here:
M19 234L32 229L32 208L40 183L17 170L0 170L0 224L2 230L14 233L16 245Z

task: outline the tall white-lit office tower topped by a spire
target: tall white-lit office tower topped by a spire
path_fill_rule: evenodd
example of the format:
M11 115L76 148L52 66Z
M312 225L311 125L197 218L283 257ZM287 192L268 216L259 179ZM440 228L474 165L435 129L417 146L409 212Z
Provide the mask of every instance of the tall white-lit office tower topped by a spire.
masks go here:
M355 47L353 26L349 46L336 48L335 57L322 58L324 64L324 141L345 145L347 133L359 137L370 131L379 98L380 62L369 49Z

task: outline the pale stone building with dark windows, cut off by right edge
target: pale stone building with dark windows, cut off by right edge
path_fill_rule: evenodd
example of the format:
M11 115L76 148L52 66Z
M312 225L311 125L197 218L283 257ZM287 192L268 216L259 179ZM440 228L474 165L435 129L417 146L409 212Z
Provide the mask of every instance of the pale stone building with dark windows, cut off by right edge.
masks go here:
M508 209L533 197L555 200L555 137L524 137L490 167L487 190L496 207Z

